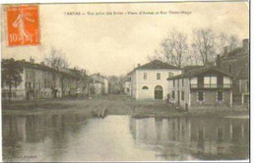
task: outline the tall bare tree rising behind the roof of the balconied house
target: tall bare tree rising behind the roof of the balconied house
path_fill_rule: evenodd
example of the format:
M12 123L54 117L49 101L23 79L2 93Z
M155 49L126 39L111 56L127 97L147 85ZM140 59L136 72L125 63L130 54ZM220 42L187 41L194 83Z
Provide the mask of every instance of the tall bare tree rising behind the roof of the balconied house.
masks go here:
M200 54L201 62L206 66L216 57L216 34L211 28L193 30L192 48Z

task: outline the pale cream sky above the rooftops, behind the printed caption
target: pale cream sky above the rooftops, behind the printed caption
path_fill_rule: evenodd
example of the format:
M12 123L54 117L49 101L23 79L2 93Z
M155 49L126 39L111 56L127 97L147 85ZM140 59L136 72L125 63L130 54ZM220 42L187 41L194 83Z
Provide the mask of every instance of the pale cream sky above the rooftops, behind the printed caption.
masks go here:
M160 15L129 15L128 12L167 12ZM185 11L188 14L173 14ZM54 48L69 66L90 74L120 76L160 49L160 41L172 28L191 35L194 28L249 37L249 11L245 2L43 4L39 6L40 45L7 44L6 16L2 9L2 58L41 62ZM68 16L67 12L85 15ZM126 15L89 16L90 13L123 12ZM190 41L193 41L192 39Z

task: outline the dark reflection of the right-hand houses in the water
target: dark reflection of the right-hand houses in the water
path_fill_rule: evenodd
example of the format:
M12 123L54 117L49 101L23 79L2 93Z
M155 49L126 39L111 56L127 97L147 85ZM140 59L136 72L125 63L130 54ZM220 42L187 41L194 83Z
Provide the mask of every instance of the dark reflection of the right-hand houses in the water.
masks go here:
M241 160L249 155L248 120L130 118L130 130L137 145L154 148L165 160Z

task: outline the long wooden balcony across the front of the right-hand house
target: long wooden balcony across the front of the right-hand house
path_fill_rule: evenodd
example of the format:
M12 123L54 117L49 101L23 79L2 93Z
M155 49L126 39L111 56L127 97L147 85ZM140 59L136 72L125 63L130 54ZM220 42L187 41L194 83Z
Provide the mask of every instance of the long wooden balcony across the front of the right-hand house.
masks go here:
M216 83L205 83L205 84L190 84L191 89L230 89L231 83L216 84Z

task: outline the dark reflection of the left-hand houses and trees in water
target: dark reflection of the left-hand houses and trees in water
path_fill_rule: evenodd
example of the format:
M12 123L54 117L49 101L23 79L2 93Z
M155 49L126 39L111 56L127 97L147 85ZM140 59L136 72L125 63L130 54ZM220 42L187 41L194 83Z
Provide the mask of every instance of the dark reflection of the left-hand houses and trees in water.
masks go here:
M5 161L32 161L51 155L60 155L68 142L68 133L79 133L85 116L30 115L3 116L3 158ZM44 150L45 149L45 150ZM35 153L35 154L32 154Z

